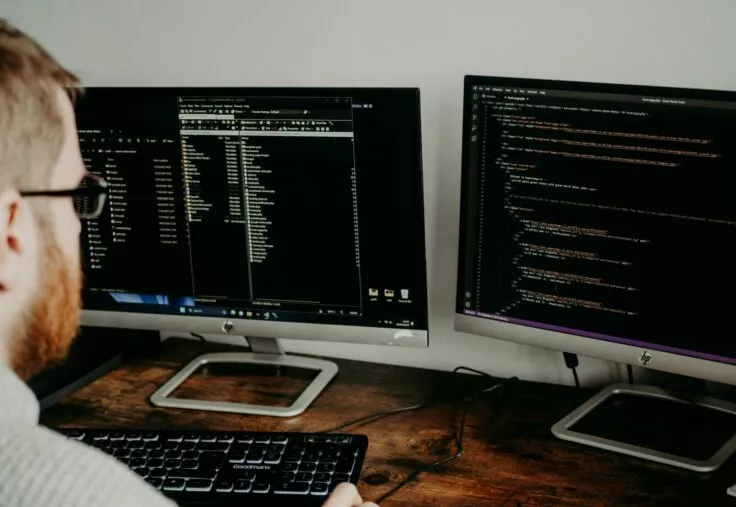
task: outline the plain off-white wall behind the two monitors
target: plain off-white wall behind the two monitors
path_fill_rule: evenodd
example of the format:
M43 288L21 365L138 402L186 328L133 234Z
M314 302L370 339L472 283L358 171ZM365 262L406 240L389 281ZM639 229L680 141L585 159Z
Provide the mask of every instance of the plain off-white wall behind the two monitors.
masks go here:
M88 85L409 85L422 90L428 350L290 350L568 382L558 353L452 330L462 77L736 88L729 0L2 0ZM585 360L585 382L619 371Z

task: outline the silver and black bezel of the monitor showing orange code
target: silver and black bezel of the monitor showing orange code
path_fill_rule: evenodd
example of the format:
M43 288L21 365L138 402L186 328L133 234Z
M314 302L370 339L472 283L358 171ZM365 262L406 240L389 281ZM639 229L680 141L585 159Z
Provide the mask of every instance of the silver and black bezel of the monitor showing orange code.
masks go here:
M463 87L462 191L460 197L460 233L458 238L459 246L454 319L454 329L463 333L517 342L548 350L570 352L586 357L605 359L616 363L631 364L653 370L736 385L736 365L717 361L715 359L704 359L686 354L667 352L661 350L661 346L657 344L651 344L651 347L628 345L463 313L463 269L465 268L463 256L465 254L465 243L467 241L467 209L469 197L469 192L467 192L469 178L469 111L472 100L472 87L477 85L515 85L518 87L529 88L563 88L565 90L572 91L628 93L633 95L651 94L664 97L688 97L692 99L729 100L733 102L736 102L736 92L662 86L466 75ZM541 324L542 323L540 323L540 325ZM693 354L700 353L698 351L691 352Z

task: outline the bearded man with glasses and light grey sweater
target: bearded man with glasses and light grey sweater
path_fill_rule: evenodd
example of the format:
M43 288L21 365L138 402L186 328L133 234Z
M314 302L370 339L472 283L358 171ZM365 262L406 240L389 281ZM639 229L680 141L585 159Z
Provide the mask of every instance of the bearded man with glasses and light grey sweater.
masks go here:
M66 355L80 307L77 79L0 19L0 506L173 505L112 457L38 425L23 382ZM94 190L92 190L94 192ZM101 193L100 193L101 195ZM98 210L99 211L99 210ZM326 506L370 506L340 485Z

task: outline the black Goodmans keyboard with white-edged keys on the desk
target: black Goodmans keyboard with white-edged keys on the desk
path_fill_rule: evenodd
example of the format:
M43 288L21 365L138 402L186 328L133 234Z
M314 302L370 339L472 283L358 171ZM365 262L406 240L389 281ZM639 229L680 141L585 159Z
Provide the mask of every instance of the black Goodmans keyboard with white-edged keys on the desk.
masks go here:
M56 431L109 453L179 505L321 505L357 483L365 435Z

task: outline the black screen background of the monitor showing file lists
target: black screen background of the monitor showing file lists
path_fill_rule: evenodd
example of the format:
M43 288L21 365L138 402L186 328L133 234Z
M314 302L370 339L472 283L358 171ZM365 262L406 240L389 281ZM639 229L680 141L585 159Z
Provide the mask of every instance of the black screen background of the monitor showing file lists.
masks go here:
M233 175L226 171L225 152L214 137L195 141L207 158L197 162L205 168L199 171L197 194L210 207L202 221L187 223L179 96L276 97L276 103L278 97L284 97L290 107L295 100L298 104L298 97L307 103L310 97L333 96L352 102L354 146L344 139L300 138L301 146L289 139L280 149L281 138L259 138L270 153L264 164L279 171L268 176L275 190L275 204L269 209L275 217L269 256L263 263L251 264L250 270L244 223L215 218L226 215L232 204L227 189ZM125 241L114 241L113 232L120 229L111 223L114 206L107 206L102 217L85 224L85 309L179 313L180 304L191 304L196 285L197 293L214 297L197 299L195 306L211 306L223 313L270 308L279 310L281 320L426 329L417 90L90 88L78 102L77 123L90 172L110 174L107 165L112 156L117 166L112 170L123 173L125 187L121 188L126 196L118 208L124 208L123 226L129 226ZM119 148L118 141L125 144L128 139L133 143L132 153ZM97 153L98 148L103 151ZM354 181L346 171L350 168L341 162L351 159L353 150ZM244 184L242 174L239 177ZM159 184L172 191L173 208L162 211ZM354 234L345 236L345 231L352 231L355 211L345 189L353 184L358 205L357 252ZM108 200L108 205L113 203ZM162 241L162 220L169 219L173 226L168 228L175 228L176 234ZM104 251L95 252L95 245ZM356 253L359 277L331 275L358 273ZM99 269L90 269L93 262ZM369 297L371 288L379 290L380 296ZM384 297L385 289L397 296ZM399 301L401 289L409 290L410 298ZM111 297L114 293L146 297L138 304L128 304ZM320 304L299 304L315 294ZM164 295L168 304L148 304L156 295ZM264 305L259 298L295 303Z

